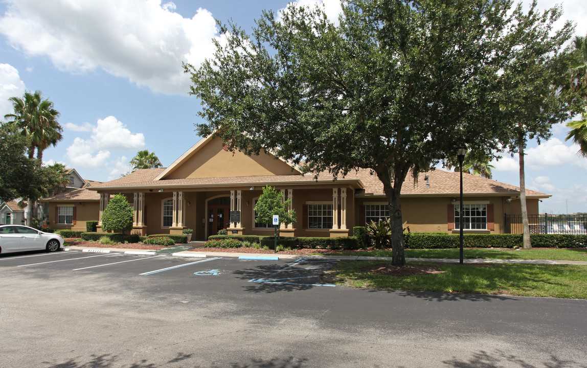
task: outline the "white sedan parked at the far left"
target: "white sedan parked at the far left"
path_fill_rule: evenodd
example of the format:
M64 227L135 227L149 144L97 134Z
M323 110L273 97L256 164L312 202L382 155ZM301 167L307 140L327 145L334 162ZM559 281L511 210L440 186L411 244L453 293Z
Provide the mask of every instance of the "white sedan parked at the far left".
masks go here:
M63 247L63 238L22 225L0 226L0 253L39 251L59 251Z

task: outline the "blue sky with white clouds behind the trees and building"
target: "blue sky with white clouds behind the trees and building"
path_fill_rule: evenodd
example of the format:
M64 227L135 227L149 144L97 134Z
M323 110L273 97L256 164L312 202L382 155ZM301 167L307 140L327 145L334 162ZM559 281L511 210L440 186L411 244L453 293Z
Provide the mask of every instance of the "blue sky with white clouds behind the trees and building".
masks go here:
M314 4L319 0L299 0ZM525 1L527 3L528 1ZM335 17L338 0L323 0ZM7 99L41 90L61 113L63 140L43 155L47 163L76 168L83 178L113 180L129 170L139 150L154 151L165 167L200 137L200 102L188 96L182 61L197 65L218 37L214 18L245 29L263 9L282 0L0 0L0 116ZM540 9L555 1L538 1ZM562 3L576 34L587 33L584 0ZM583 22L579 22L583 21ZM530 143L528 188L552 194L541 212L587 212L587 159L565 142ZM494 163L494 180L519 185L517 157Z

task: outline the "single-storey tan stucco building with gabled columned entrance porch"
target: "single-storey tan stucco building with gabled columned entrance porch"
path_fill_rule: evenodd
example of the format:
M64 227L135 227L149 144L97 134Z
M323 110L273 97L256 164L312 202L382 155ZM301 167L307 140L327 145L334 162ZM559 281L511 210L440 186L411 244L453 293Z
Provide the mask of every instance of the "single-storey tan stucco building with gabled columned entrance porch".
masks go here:
M504 232L504 214L520 213L519 188L463 176L465 231ZM407 180L401 202L403 220L410 230L457 232L459 183L459 173L443 170L421 174L416 184ZM73 207L74 225L79 229L80 222L85 229L85 221L100 221L112 195L122 193L134 207L133 232L139 234L180 234L191 228L193 239L203 240L225 228L229 234L272 235L271 225L255 223L255 201L265 185L292 200L298 221L281 225L285 236L348 236L355 226L389 217L383 185L370 170L353 171L336 181L329 174L315 180L313 174L301 175L300 167L271 153L233 154L212 136L200 140L168 168L137 170L83 188L93 195L87 200L82 200L81 193L71 193L69 200L62 195L46 201L57 220L57 207ZM529 214L538 214L539 200L548 197L528 190ZM231 212L239 217L231 219ZM100 231L100 222L98 226Z

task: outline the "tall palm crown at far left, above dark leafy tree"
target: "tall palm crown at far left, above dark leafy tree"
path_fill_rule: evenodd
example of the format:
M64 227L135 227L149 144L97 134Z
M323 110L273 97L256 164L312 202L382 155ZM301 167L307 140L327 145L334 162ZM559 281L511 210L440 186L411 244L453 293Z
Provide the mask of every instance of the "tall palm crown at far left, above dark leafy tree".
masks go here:
M36 150L37 158L42 161L43 151L63 139L63 129L57 121L59 112L53 108L53 102L42 98L41 91L25 92L22 98L11 97L9 100L14 113L4 117L11 119L9 122L31 139L29 158L35 156Z

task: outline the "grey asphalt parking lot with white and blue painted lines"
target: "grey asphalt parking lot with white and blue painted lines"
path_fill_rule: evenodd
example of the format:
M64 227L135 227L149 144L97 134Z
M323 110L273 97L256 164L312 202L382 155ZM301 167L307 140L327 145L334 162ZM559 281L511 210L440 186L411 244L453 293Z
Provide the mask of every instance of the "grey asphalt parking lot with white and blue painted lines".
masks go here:
M584 367L587 301L367 291L336 259L0 255L0 367Z

